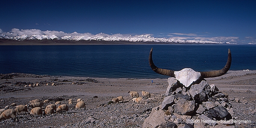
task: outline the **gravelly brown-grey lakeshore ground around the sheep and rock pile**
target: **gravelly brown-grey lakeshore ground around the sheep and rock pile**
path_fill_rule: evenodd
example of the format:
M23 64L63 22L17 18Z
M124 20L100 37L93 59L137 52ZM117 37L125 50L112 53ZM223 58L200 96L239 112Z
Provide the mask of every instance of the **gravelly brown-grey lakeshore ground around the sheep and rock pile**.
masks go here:
M46 105L61 101L69 105L68 113L56 113L51 116L34 117L22 113L17 120L6 119L0 122L2 128L96 128L96 127L141 127L150 110L161 104L167 79L107 79L69 76L39 76L33 74L11 73L0 75L0 108L16 103L27 105L32 99L49 99ZM215 84L222 92L229 94L235 109L236 119L252 120L251 124L235 125L256 127L256 71L228 71L223 76L207 78L209 84ZM152 82L153 81L153 82ZM29 84L39 86L29 87ZM48 83L48 86L47 86ZM52 86L55 83L55 86ZM26 86L26 87L25 87ZM131 101L128 91L150 92L151 98L143 99L139 104ZM108 104L112 98L123 96L123 103ZM76 110L76 100L86 103L85 110ZM233 99L239 98L240 102ZM10 108L15 108L11 106Z

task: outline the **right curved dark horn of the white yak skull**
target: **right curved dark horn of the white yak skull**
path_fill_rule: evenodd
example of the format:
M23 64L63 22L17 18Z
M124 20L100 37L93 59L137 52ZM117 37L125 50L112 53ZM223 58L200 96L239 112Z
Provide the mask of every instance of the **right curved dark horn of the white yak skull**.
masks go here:
M211 77L218 77L218 76L224 75L230 69L231 60L232 60L231 52L230 52L230 49L228 49L227 64L225 65L225 67L223 67L221 70L217 70L217 71L200 72L201 78L211 78Z

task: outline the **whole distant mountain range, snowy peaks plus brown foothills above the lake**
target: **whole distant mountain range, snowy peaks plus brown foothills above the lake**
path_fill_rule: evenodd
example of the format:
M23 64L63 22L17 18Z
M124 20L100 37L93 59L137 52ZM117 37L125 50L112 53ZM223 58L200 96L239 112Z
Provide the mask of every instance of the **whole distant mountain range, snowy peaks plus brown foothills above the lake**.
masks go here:
M111 36L61 36L56 35L19 35L15 37L9 37L5 34L0 34L0 42L3 41L30 41L30 42L126 42L126 43L137 43L137 44L228 44L225 42L215 42L215 41L200 41L200 40L181 40L181 39L172 39L172 38L154 38L150 35L133 35L127 37L111 37ZM114 43L115 44L115 43ZM118 43L117 43L118 44Z

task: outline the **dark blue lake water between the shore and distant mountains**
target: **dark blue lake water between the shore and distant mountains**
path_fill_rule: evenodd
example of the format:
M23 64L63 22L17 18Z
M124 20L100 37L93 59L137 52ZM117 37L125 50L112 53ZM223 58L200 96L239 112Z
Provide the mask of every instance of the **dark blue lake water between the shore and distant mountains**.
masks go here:
M256 45L61 45L0 46L0 73L100 78L168 78L157 67L220 70L232 53L230 70L256 70Z

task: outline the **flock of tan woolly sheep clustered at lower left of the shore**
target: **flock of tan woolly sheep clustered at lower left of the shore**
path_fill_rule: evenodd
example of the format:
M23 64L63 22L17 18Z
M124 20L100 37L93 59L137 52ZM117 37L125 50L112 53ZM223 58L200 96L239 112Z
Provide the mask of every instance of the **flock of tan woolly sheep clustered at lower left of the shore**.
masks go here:
M69 105L72 105L72 99L69 99ZM55 102L55 104L49 104L49 100L41 101L40 99L33 99L29 102L29 105L17 105L16 103L13 103L11 105L6 106L3 109L0 109L0 120L3 119L9 119L9 118L16 118L16 113L21 114L21 112L29 113L33 116L42 116L43 112L44 115L52 115L53 113L61 113L61 112L68 112L69 107L66 104L62 104L61 102ZM44 105L46 107L44 108ZM10 107L14 107L15 109L11 109ZM43 110L44 108L44 110ZM85 109L85 103L81 99L77 99L76 103L77 109Z

